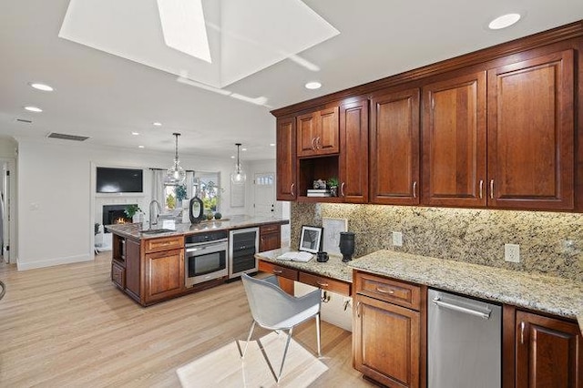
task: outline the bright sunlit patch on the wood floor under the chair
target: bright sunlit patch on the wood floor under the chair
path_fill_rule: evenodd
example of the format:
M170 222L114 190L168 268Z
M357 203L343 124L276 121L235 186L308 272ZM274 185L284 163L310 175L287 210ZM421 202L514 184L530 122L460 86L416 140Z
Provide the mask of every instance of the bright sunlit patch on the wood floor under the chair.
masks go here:
M271 332L261 337L259 342L251 341L244 360L241 360L240 353L245 347L245 341L233 341L181 366L176 373L183 388L308 387L328 367L314 352L304 349L293 338L283 365L281 381L278 384L275 380L280 371L286 338L285 333Z

